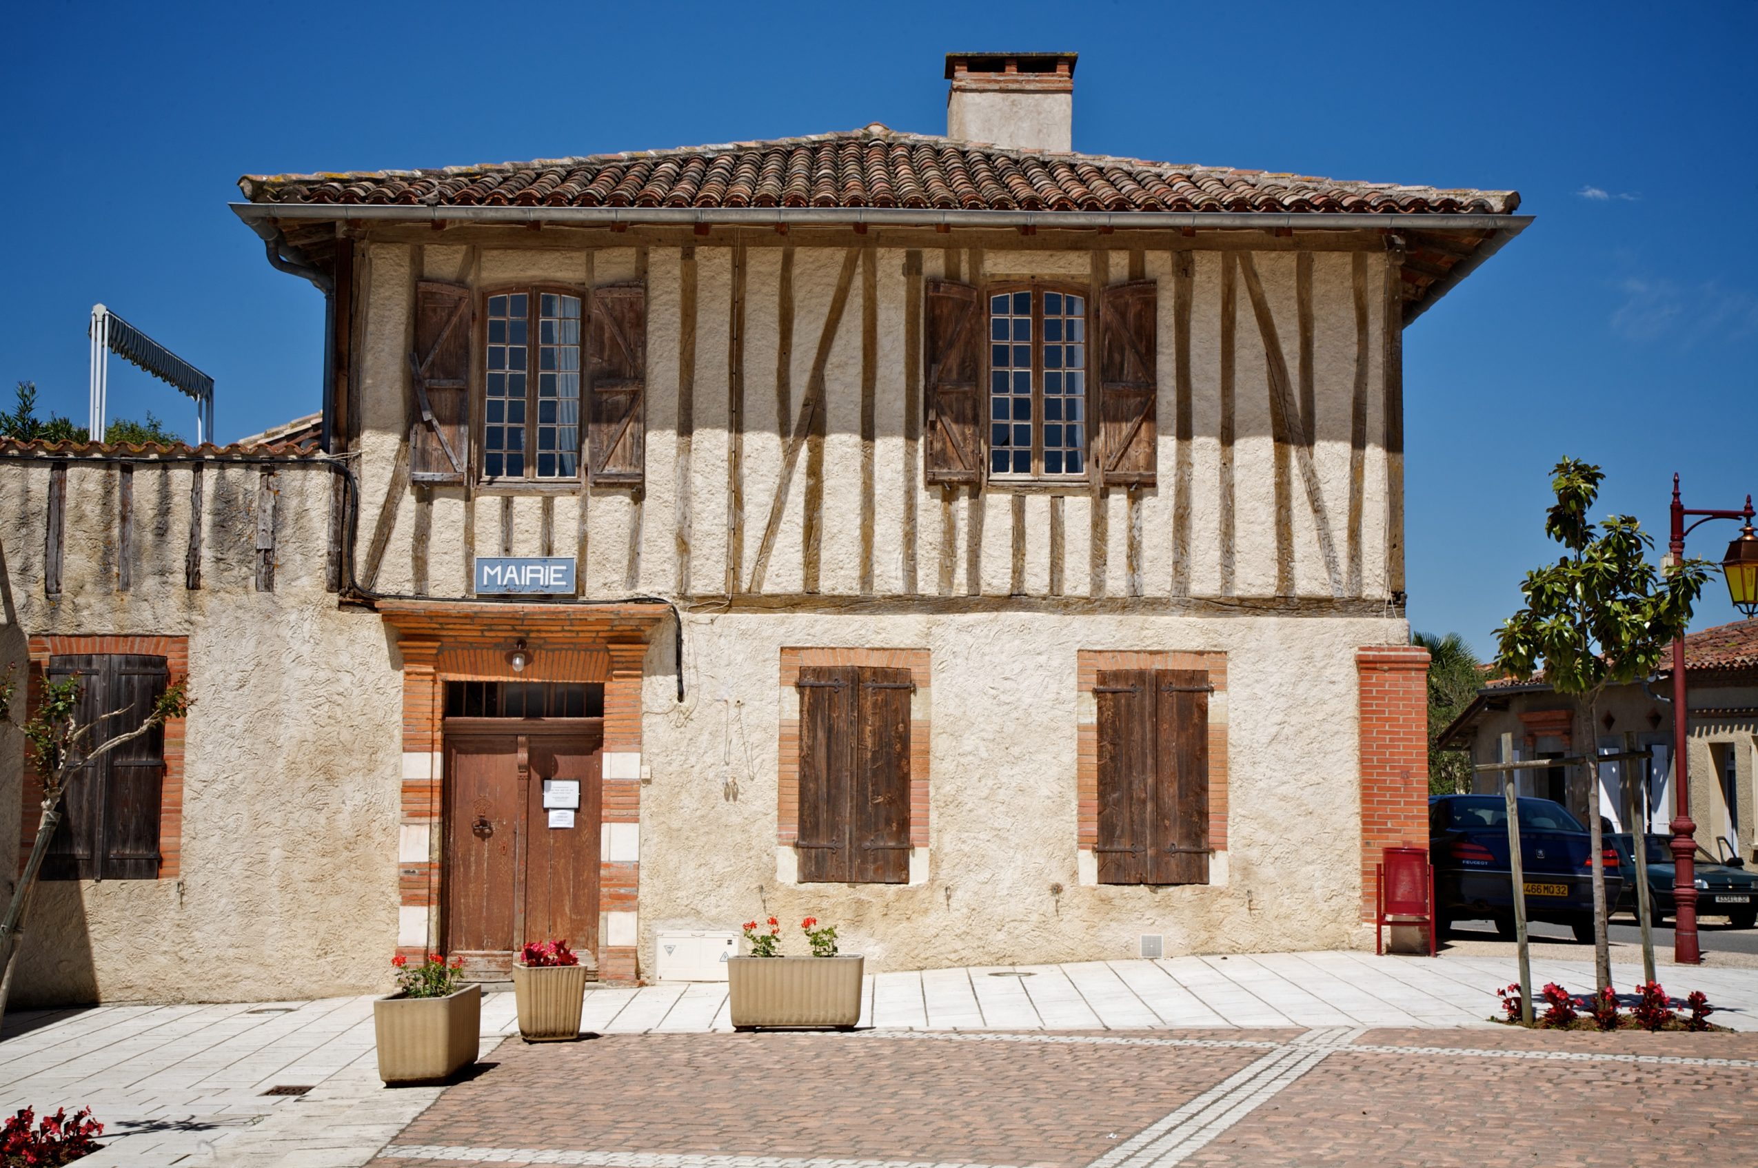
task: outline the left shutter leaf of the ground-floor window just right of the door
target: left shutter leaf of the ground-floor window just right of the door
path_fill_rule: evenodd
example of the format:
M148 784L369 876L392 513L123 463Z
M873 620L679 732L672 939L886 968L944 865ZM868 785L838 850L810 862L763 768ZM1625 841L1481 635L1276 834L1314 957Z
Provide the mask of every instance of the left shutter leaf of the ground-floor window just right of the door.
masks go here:
M851 878L849 804L860 671L853 666L800 669L800 882Z

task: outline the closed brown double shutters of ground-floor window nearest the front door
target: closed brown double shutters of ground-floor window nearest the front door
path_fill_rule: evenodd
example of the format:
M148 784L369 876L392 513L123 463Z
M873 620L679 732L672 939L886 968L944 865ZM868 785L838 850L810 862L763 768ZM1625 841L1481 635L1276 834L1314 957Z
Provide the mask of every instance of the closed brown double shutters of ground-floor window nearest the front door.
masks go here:
M800 669L800 882L909 882L909 669Z

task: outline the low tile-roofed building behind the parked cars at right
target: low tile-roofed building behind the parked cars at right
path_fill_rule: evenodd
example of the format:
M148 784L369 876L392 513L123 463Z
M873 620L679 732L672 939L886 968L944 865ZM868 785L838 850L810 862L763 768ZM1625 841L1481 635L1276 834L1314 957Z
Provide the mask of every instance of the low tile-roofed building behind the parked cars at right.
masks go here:
M1689 708L1691 820L1707 855L1758 861L1758 620L1740 620L1684 638L1686 704ZM1514 761L1563 759L1577 753L1580 718L1572 697L1535 681L1496 680L1454 718L1442 736L1445 748L1468 750L1471 762L1496 762L1501 736L1514 734ZM1642 764L1600 764L1600 815L1617 831L1640 822L1670 834L1675 808L1672 766L1672 664L1649 681L1619 685L1600 701L1595 732L1600 753L1649 748ZM1494 775L1478 775L1478 792L1500 790ZM1522 796L1556 799L1575 815L1587 813L1589 782L1582 768L1519 771Z

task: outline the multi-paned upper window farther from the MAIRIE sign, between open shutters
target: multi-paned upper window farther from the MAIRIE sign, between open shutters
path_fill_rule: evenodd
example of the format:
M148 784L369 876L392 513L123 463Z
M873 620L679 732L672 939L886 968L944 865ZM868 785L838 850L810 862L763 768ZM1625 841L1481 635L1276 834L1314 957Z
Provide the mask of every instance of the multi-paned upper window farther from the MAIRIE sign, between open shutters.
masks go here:
M1086 472L1086 297L990 293L990 474Z

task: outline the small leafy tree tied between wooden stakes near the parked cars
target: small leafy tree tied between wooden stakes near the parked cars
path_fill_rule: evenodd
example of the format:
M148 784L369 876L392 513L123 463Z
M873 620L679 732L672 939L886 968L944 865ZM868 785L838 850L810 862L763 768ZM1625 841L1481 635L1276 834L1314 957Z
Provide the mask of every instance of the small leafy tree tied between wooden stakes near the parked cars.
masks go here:
M1575 741L1595 753L1600 697L1653 673L1672 641L1684 636L1691 604L1709 580L1704 560L1686 560L1665 573L1649 564L1654 541L1630 515L1610 515L1602 525L1587 520L1600 497L1600 467L1563 458L1552 469L1556 504L1544 530L1563 544L1554 566L1526 573L1521 594L1526 608L1508 616L1496 634L1496 667L1517 678L1544 669L1558 694L1575 699L1580 732ZM1591 768L1598 769L1598 768ZM1589 783L1587 829L1593 836L1593 957L1603 991L1612 984L1605 941L1605 866L1600 833L1598 775Z

